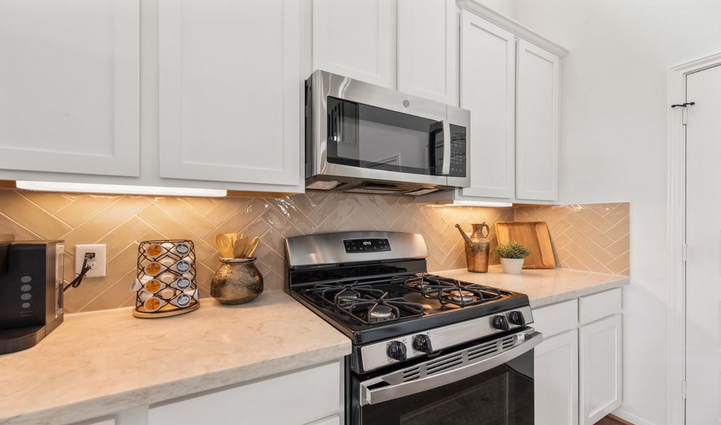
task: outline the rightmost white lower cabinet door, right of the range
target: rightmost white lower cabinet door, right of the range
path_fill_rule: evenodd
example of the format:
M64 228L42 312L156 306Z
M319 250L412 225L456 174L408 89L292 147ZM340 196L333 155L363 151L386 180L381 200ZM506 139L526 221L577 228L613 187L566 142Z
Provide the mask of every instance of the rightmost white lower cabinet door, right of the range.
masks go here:
M621 315L578 328L580 424L593 425L621 406Z

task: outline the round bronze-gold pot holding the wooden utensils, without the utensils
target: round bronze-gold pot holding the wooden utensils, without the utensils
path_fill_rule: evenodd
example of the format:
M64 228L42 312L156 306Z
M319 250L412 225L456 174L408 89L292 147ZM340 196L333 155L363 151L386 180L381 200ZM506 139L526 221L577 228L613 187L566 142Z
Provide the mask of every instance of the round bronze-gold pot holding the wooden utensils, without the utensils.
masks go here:
M211 296L223 304L244 304L263 292L263 277L255 257L221 259L211 280Z

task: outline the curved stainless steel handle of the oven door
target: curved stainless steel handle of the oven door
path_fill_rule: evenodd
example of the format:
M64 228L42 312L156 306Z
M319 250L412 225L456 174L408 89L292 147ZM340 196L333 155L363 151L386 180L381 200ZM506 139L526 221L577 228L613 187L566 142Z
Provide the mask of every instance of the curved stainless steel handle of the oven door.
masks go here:
M530 332L528 330L520 332L515 336L518 339L522 338L523 342L516 344L513 348L507 349L495 356L482 358L475 362L461 364L459 367L438 372L427 377L395 385L386 385L381 388L369 388L373 384L380 383L382 379L379 378L361 383L361 406L383 403L384 401L406 397L407 395L422 393L423 391L432 390L433 388L458 382L466 377L478 375L479 373L491 370L494 367L498 367L501 364L528 352L533 349L534 346L538 345L541 342L541 339L543 339L543 336L534 330L531 330Z

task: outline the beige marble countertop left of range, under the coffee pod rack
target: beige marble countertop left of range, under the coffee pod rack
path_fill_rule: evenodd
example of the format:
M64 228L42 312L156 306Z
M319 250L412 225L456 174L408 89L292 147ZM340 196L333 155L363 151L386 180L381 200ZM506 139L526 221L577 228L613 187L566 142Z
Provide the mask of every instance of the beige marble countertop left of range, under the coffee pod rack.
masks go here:
M171 318L130 309L66 316L0 355L0 424L66 424L319 364L350 339L283 292Z

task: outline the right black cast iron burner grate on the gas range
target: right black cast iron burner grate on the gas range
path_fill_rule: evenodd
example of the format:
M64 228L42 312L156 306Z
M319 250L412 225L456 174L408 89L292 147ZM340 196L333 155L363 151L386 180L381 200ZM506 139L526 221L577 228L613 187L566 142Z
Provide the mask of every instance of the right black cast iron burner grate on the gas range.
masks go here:
M435 298L443 305L451 304L466 307L501 298L499 289L472 283L461 283L456 279L435 274L417 273L395 276L391 279L391 283L420 292L426 298Z

